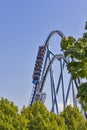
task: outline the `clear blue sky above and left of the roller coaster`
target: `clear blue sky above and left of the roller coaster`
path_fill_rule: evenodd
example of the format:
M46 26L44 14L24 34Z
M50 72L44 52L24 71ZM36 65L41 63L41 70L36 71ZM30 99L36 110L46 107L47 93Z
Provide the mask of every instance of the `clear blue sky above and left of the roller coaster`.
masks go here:
M52 30L81 37L87 0L0 0L0 97L28 105L38 46Z

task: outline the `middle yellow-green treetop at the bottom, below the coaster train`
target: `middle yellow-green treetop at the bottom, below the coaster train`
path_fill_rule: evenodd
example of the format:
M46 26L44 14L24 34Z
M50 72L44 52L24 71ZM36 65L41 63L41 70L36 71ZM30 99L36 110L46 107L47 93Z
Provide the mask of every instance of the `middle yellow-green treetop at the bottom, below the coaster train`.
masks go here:
M40 102L23 108L21 113L29 120L29 130L68 130L64 119L49 112Z

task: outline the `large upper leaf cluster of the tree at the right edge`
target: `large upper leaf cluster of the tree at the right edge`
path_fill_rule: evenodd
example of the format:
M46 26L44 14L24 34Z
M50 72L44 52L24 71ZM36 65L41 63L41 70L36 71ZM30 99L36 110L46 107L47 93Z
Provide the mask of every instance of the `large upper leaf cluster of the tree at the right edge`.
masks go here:
M65 57L70 56L72 59L67 69L73 79L87 78L87 38L79 38L77 41L73 37L63 38L61 49Z

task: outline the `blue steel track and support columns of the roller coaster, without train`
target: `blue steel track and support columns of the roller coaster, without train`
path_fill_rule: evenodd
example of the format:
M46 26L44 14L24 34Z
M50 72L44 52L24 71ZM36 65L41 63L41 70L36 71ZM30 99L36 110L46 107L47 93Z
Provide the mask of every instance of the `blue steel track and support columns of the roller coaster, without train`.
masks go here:
M61 37L61 39L63 39L65 37L65 35L59 30L52 31L49 34L49 36L47 37L46 41L44 42L44 45L39 47L39 49L42 48L42 52L43 52L43 48L45 49L45 51L44 51L45 55L43 55L42 52L38 52L35 67L40 67L39 65L43 64L43 62L41 62L41 64L39 64L39 61L43 60L43 57L45 59L44 59L44 64L41 67L41 68L43 68L42 70L41 70L41 68L38 68L39 70L37 68L36 69L34 68L35 73L34 73L33 80L36 80L36 81L33 81L34 86L33 86L32 94L31 94L31 98L30 98L30 105L32 105L37 100L38 101L42 100L41 96L43 95L44 84L46 82L48 73L50 73L50 80L52 80L51 86L50 86L51 95L52 95L52 111L54 112L54 105L55 105L56 111L57 111L56 113L58 114L59 110L58 110L56 96L58 96L60 82L62 85L61 89L62 89L63 106L65 108L65 106L67 105L70 88L72 88L73 104L74 104L74 106L77 106L74 87L76 88L76 91L78 92L78 85L80 84L80 79L78 78L77 80L72 80L72 76L70 75L69 83L67 85L68 87L67 87L67 91L66 91L66 95L65 95L64 83L63 83L63 81L64 81L63 80L63 70L64 70L65 65L70 62L69 61L70 58L69 57L65 58L63 54L54 54L52 51L49 50L49 46L50 46L49 41L54 34L59 35ZM42 55L42 58L40 58L41 55ZM54 64L55 60L58 60L60 62L60 73L59 73L58 84L57 84L56 88L54 85L54 77L53 77L53 72L52 72L53 71L52 65ZM38 72L40 72L40 73L42 72L41 74L39 73L39 78L37 78ZM37 79L35 79L35 78L37 78ZM39 94L39 97L37 98L38 94Z

